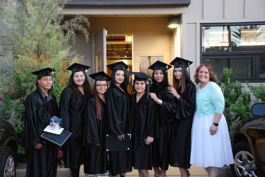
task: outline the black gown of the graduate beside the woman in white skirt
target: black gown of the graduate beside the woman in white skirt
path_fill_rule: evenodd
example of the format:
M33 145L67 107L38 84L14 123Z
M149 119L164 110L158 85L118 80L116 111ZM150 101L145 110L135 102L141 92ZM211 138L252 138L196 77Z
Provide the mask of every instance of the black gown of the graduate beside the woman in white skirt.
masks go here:
M189 169L191 167L191 128L195 112L196 87L186 81L185 90L181 86L177 90L180 95L176 99L177 111L172 122L173 130L170 144L170 166Z

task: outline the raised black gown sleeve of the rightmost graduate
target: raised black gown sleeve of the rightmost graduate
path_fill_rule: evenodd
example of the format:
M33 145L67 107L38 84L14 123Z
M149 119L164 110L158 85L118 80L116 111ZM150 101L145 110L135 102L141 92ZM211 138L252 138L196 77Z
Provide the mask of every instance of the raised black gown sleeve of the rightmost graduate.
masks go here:
M181 89L178 89L181 90ZM193 118L196 101L196 87L193 83L188 82L185 85L185 91L178 100L178 109L176 118L179 120Z

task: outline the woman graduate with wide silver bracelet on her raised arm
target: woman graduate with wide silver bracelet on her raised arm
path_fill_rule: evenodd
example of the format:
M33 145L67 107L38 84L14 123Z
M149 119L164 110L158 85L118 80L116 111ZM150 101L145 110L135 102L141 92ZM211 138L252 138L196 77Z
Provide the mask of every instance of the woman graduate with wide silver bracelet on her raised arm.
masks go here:
M168 66L161 61L154 62L149 69L153 70L149 95L156 102L156 116L158 117L158 127L160 131L160 139L153 144L153 169L154 176L166 176L166 170L169 167L169 146L171 136L171 121L176 113L176 101L174 95L169 93L167 70L172 66ZM159 167L161 169L159 169Z

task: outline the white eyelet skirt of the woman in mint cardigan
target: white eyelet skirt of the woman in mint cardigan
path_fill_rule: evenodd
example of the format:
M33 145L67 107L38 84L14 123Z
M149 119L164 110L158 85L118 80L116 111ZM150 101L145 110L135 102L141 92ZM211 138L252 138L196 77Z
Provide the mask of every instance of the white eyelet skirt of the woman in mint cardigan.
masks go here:
M195 112L191 135L191 164L200 167L222 167L233 164L233 153L226 118L222 115L217 133L210 134L214 114L199 117Z

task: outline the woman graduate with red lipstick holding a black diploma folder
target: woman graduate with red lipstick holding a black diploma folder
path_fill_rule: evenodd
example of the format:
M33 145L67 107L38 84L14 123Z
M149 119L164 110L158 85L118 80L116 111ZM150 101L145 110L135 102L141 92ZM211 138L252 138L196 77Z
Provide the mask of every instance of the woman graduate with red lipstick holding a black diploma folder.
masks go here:
M116 134L118 139L124 139L124 133L131 133L126 74L126 69L129 67L122 61L107 66L113 71L110 87L106 93L107 133ZM131 151L109 152L109 160L112 176L125 176L126 172L132 171Z

